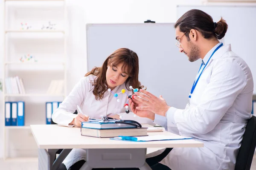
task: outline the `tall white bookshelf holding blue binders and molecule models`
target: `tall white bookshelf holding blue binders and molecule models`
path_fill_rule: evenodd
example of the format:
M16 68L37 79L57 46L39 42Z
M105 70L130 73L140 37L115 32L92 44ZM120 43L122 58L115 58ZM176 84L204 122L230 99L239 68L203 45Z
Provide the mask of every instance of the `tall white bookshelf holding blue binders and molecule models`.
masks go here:
M45 102L62 101L67 94L66 0L3 0L3 3L3 159L38 161L30 125L46 124ZM27 23L30 27L23 27ZM21 62L22 56L29 54L38 61ZM24 94L7 91L6 79L14 76L23 79ZM63 80L63 90L60 94L47 94L55 79ZM25 101L24 126L5 126L8 101Z

